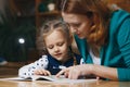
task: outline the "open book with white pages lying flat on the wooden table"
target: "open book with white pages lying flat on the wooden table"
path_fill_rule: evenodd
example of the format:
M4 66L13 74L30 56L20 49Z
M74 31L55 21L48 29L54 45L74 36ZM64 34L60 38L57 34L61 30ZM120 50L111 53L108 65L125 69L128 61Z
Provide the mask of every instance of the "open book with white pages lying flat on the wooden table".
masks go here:
M49 80L53 83L84 83L84 82L96 82L96 79L69 79L64 76L56 77L55 75L43 76L43 75L32 75L29 78L21 78L21 77L10 77L2 78L4 80L22 80L22 82L34 82L34 80ZM1 80L1 79L0 79Z

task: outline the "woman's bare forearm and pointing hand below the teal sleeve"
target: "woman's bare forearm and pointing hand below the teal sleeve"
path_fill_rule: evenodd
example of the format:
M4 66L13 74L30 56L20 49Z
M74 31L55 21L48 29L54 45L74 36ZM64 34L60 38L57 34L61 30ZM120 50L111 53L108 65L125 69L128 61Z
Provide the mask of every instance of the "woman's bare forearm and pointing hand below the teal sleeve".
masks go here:
M60 76L62 74L73 79L77 79L80 76L95 75L98 77L118 80L117 69L95 64L82 64L70 66L68 69L61 71L56 76Z

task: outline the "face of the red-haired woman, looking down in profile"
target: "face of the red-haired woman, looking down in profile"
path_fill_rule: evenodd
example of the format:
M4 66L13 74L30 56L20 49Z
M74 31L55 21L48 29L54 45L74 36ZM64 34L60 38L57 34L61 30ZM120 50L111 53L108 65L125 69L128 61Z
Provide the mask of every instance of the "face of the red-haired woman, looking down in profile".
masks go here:
M70 32L78 35L79 38L87 38L90 34L92 21L86 15L64 13L62 12L64 21L69 25Z

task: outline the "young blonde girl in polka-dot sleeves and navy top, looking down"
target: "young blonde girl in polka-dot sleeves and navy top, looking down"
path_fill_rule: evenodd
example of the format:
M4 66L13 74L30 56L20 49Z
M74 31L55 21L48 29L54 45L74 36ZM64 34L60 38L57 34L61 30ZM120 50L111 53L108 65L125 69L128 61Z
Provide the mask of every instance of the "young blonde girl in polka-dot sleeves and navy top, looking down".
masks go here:
M47 22L41 28L43 44L48 54L38 61L25 65L18 70L20 77L31 75L55 75L62 69L80 64L81 57L73 53L70 44L72 36L67 25L58 20Z

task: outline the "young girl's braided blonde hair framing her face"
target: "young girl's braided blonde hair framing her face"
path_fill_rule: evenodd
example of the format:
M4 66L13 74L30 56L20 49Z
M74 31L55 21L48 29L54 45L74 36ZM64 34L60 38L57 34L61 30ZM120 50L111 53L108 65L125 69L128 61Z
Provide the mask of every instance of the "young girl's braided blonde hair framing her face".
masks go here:
M51 33L53 33L54 30L60 30L63 33L63 35L65 36L67 42L70 42L70 33L68 29L68 25L63 22L62 20L52 20L52 21L47 21L40 28L40 37L43 40L43 50L47 51L46 49L46 42L44 42L44 38L47 36L49 36Z

